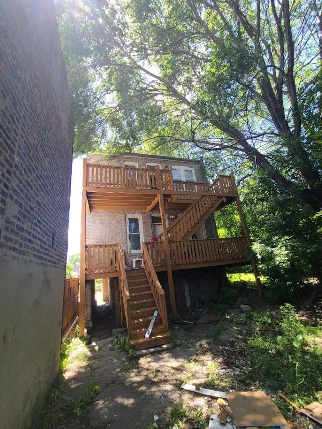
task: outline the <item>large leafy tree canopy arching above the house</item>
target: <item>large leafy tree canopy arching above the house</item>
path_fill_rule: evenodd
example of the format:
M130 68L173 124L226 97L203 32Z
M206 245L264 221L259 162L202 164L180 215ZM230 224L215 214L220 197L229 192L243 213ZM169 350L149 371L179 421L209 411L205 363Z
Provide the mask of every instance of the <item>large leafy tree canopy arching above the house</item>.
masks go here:
M322 208L320 0L61 2L94 143L225 150Z

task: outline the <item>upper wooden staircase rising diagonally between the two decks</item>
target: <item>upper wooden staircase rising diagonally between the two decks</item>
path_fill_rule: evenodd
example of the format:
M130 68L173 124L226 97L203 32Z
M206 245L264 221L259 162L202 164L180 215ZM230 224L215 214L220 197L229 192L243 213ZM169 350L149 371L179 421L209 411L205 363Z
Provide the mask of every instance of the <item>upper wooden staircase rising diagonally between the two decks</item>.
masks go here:
M167 228L170 241L189 240L225 197L202 195Z

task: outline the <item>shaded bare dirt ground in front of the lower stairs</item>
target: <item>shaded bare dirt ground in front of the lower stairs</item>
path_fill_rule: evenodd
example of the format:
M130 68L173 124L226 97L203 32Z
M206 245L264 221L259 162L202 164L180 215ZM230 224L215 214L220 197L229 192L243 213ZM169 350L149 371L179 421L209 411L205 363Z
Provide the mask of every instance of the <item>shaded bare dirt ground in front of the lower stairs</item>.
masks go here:
M256 295L245 299L245 303L252 309L261 305ZM202 386L216 368L223 384L227 379L226 389L243 389L238 373L249 363L238 346L241 334L248 330L240 323L242 314L240 305L223 313L200 308L188 318L193 323L170 324L172 348L142 357L129 358L113 346L112 338L99 336L95 344L88 346L87 365L70 360L62 379L53 388L41 429L169 427L165 426L166 416L180 403L201 409L209 420L210 414L219 410L216 400L187 392L180 386L182 383ZM213 339L214 327L223 323L224 330ZM225 377L231 375L234 377ZM79 415L75 410L67 411L70 402L81 406L84 392L92 386L99 388L93 394L91 409L81 409ZM158 418L156 422L154 416Z

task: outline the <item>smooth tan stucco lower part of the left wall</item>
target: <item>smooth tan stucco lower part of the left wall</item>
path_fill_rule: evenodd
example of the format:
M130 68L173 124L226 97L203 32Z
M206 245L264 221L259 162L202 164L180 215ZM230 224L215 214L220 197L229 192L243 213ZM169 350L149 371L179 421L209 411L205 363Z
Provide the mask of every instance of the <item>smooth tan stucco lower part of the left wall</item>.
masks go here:
M64 270L2 258L0 427L27 429L54 381Z

